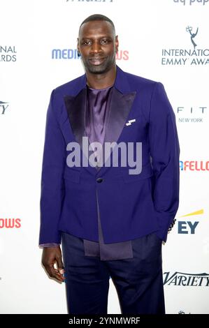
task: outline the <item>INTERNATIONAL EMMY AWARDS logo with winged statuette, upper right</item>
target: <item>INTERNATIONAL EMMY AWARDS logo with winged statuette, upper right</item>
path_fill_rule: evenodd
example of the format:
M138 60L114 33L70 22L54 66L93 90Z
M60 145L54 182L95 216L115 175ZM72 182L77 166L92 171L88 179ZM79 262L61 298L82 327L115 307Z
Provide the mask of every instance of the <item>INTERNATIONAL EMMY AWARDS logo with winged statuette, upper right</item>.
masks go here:
M209 0L208 0L209 1ZM161 65L171 66L205 66L209 64L209 49L196 49L196 35L199 31L197 27L193 31L193 27L186 27L186 33L189 33L190 45L192 49L162 49Z

